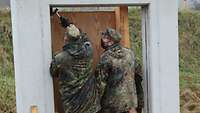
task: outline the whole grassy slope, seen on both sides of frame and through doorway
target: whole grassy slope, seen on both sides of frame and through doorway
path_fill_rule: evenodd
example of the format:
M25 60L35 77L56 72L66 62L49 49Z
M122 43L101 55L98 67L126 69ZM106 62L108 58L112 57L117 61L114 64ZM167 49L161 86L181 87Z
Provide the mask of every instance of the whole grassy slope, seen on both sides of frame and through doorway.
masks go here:
M132 49L141 62L140 9L129 11ZM2 29L3 28L3 29ZM0 11L0 113L15 113L10 12ZM181 113L200 113L200 12L179 12Z

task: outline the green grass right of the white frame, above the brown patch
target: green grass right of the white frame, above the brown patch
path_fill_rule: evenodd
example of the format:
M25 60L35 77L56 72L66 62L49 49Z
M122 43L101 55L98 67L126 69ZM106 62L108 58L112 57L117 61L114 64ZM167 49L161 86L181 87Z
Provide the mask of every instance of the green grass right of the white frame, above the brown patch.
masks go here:
M180 87L200 84L200 12L179 12Z

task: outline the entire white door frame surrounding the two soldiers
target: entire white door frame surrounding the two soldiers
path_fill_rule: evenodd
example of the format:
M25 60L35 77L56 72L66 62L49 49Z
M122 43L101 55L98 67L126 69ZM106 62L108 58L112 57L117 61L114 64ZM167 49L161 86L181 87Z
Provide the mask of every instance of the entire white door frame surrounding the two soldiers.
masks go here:
M11 0L17 113L54 113L49 7L143 6L148 113L179 113L178 15L174 0Z

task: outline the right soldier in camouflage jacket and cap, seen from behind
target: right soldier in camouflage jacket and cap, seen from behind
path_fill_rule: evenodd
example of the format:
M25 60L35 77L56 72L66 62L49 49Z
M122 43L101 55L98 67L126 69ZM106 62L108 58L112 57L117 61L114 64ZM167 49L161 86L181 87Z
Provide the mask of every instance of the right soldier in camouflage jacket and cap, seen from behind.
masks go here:
M100 113L135 113L134 54L120 45L121 35L114 29L106 29L102 35L105 51L96 70L102 95Z

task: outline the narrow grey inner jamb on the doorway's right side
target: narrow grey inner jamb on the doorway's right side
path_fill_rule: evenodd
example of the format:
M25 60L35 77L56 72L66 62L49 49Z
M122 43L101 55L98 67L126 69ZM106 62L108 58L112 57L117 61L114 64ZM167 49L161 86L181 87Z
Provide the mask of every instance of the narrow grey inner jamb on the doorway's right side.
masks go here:
M150 109L150 50L149 50L149 14L148 6L142 7L142 51L144 66L144 112L148 113Z

